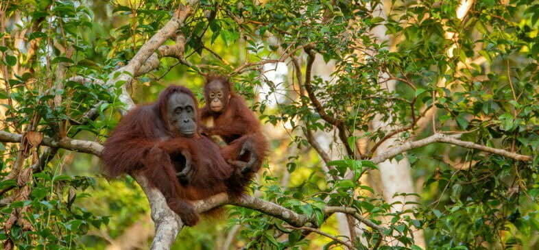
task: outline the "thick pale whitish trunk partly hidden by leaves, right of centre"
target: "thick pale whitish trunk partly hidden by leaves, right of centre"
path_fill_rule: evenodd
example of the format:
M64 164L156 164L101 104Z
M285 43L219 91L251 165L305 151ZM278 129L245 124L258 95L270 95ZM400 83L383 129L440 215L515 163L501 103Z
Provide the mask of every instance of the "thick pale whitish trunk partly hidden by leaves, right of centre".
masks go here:
M380 16L382 18L386 18L385 10L383 4L379 4L376 6L373 12L374 16ZM372 34L379 40L379 42L385 42L389 41L390 37L386 34L387 28L384 25L379 25L377 27L374 27L372 29ZM387 79L389 78L389 75L386 73L381 73L380 79ZM382 82L382 81L380 81ZM384 86L388 92L394 92L396 88L396 81L390 80L385 82ZM387 121L382 121L383 115L378 114L374 117L374 121L372 121L372 128L374 130L382 129L384 131L390 132L395 129L395 127L389 125L391 124L392 118L390 118ZM378 154L380 152L388 151L392 146L398 145L398 134L393 136L392 138L389 138L385 140L377 149L374 154ZM385 160L384 162L381 162L378 164L379 171L380 171L380 179L382 183L382 193L383 197L385 199L385 202L387 203L395 203L400 202L400 204L396 204L392 206L392 212L397 211L403 211L407 210L409 208L413 208L414 205L407 204L405 205L405 202L409 201L416 201L416 196L403 196L403 195L395 195L396 193L414 193L416 192L414 188L414 182L411 177L411 168L410 163L407 158L403 158L400 161L397 161L395 159L393 160ZM413 214L409 214L410 216L413 216ZM419 247L424 247L424 236L422 230L417 230L414 232L414 241L416 245ZM394 243L390 243L397 245L398 241L394 240Z

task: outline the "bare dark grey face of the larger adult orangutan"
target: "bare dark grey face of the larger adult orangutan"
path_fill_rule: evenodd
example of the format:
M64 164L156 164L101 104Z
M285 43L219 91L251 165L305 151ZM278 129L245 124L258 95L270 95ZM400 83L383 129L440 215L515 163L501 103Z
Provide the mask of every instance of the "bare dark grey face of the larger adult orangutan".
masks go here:
M197 131L195 101L182 92L172 94L167 101L167 121L172 132L193 137Z

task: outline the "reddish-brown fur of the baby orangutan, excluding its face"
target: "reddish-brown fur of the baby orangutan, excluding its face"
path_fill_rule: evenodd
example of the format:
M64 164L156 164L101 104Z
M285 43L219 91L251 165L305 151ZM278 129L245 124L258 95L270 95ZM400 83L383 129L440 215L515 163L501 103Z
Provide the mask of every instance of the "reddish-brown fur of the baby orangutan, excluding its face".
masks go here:
M208 107L208 89L210 82L219 81L224 87L225 97L230 94L228 103L225 103L221 112L213 112ZM256 173L262 166L263 160L267 156L267 140L261 132L261 124L256 118L254 112L245 104L245 100L241 95L237 95L230 86L228 77L221 75L206 76L206 84L204 85L204 97L206 105L201 110L202 124L213 118L213 127L204 128L205 132L211 136L220 136L228 145L237 145L241 140L239 138L251 138L254 142L254 150L259 156L254 164L252 171ZM225 155L237 155L241 147L230 147L224 149ZM243 155L245 156L245 155ZM245 160L245 159L242 159Z

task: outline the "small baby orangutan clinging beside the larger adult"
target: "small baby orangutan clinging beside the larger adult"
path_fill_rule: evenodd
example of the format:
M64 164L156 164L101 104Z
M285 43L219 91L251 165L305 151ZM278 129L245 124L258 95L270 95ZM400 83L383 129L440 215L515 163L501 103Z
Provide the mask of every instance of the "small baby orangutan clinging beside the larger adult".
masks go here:
M228 77L221 75L206 76L204 97L206 105L201 114L204 132L210 136L220 136L230 146L236 145L226 150L231 151L231 155L241 155L242 160L249 158L249 155L237 151L240 149L237 144L251 138L257 157L252 169L244 169L245 173L259 171L267 155L267 140L261 132L259 119L247 107L243 97L232 91Z

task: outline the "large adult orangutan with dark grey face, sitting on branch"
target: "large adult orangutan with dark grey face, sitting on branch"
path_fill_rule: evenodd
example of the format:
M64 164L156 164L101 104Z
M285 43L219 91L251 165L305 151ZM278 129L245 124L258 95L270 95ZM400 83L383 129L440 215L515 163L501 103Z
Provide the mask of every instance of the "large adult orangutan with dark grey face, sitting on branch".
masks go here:
M197 107L191 90L169 86L155 103L139 105L121 119L101 155L106 175L136 172L145 176L189 226L199 220L190 200L219 192L240 195L250 178L241 173L248 173L257 160L251 138L219 149L200 135ZM247 162L232 155L243 151L252 152Z

